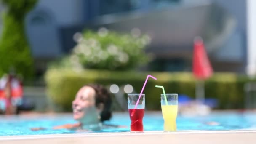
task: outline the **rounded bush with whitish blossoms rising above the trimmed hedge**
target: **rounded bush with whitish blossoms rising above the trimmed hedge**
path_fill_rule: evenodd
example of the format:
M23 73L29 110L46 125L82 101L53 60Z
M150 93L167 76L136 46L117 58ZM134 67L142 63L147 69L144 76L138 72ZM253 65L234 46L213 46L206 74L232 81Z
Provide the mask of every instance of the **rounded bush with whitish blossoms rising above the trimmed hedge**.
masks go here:
M98 32L85 30L74 37L77 45L71 55L51 67L125 70L134 69L148 60L144 49L150 38L139 35L139 29L131 34L120 34L101 28Z

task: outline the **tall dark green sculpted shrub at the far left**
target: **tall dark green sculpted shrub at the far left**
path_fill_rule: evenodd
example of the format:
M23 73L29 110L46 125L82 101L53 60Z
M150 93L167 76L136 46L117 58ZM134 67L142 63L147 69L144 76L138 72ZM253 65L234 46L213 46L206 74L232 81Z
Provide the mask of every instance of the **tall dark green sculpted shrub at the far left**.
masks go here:
M3 15L3 33L0 37L0 75L14 68L24 77L32 77L33 60L24 32L24 18L37 0L2 2L8 10Z

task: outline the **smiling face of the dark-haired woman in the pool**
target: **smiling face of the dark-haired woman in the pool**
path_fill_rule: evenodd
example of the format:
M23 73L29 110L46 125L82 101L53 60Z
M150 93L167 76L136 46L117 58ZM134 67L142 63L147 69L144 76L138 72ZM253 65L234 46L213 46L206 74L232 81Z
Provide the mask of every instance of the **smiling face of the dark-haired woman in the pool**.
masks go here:
M90 117L95 114L95 90L90 86L84 86L77 92L75 100L72 102L73 117L75 120L82 120L84 117Z

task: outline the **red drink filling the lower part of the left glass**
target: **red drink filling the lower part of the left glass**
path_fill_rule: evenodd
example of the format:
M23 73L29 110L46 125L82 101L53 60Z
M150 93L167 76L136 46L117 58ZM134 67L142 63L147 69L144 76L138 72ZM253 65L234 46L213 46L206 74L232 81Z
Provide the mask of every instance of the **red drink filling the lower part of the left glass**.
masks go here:
M133 116L131 116L132 113ZM129 109L129 114L131 119L131 131L143 131L142 119L144 117L144 109Z

